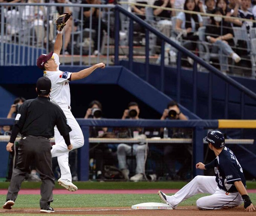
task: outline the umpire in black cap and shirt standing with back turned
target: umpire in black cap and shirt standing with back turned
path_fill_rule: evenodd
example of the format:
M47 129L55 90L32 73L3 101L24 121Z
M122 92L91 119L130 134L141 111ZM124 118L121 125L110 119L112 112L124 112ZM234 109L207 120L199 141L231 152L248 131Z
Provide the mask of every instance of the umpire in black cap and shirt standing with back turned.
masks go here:
M71 150L73 148L69 138L71 128L67 124L66 116L61 108L50 102L50 79L39 78L36 91L37 98L26 100L21 105L15 118L10 141L6 146L6 150L11 152L18 132L22 134L19 141L17 167L13 171L3 208L11 209L14 205L21 183L26 173L30 171L31 161L34 160L42 181L40 212L51 213L54 212L50 207L50 202L53 201L54 175L52 172L52 145L49 140L54 136L56 125L64 137L67 148Z

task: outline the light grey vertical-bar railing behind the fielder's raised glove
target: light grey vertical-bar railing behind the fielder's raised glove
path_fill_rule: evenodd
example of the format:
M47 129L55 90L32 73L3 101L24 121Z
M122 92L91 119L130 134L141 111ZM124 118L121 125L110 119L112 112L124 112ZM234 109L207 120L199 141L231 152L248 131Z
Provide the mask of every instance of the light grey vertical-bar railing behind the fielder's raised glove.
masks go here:
M0 65L36 65L36 59L41 53L53 51L56 35L54 19L58 16L56 8L59 7L64 8L64 11L69 8L68 11L72 12L63 33L61 54L65 58L61 59L62 65L91 65L99 62L101 49L104 48L107 49L104 62L109 65L108 35L111 35L111 9L114 5L59 3L0 3ZM93 16L93 8L99 10L96 18ZM87 10L90 11L90 16L84 17ZM107 46L101 47L101 41ZM93 55L93 50L98 50L96 56Z

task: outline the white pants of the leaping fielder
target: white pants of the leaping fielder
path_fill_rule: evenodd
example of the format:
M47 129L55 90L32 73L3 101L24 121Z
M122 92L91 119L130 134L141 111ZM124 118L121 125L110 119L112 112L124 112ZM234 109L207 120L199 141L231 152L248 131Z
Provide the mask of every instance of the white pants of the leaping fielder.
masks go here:
M72 115L72 112L68 108L67 105L59 105L63 110L64 114L67 118L67 123L71 127L72 131L70 131L70 143L73 145L73 149L80 148L84 145L84 136L82 130L77 123L75 117ZM69 168L69 151L67 149L67 145L65 143L64 138L59 133L57 127L54 128L54 138L55 145L52 147L52 157L57 157L59 168L61 170L61 179L67 179L72 181L72 175ZM71 150L71 151L72 151Z

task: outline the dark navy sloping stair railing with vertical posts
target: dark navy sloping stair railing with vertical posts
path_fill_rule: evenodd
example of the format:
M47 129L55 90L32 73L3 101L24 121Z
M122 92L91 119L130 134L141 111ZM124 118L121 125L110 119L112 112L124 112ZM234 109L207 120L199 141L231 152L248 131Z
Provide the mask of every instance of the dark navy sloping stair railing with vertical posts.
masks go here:
M146 81L148 82L149 78L149 32L153 33L156 35L159 39L161 39L161 56L164 56L165 53L165 44L169 44L175 49L178 50L177 54L177 102L180 103L180 98L181 98L181 54L186 54L186 56L190 57L191 59L194 60L193 64L193 96L192 96L192 101L193 101L193 109L191 110L192 112L196 113L197 110L197 91L198 91L198 83L197 83L197 71L198 67L197 65L201 65L202 67L206 68L209 73L209 78L208 78L208 116L209 119L212 118L212 91L213 91L213 86L212 86L212 79L213 79L213 74L216 76L220 77L222 80L226 82L226 88L225 92L223 93L225 95L225 118L228 118L228 102L229 102L229 88L230 86L233 86L235 89L238 89L239 92L241 93L241 100L240 100L240 106L241 106L241 119L244 118L244 101L245 101L245 95L247 95L250 98L253 98L256 100L256 94L252 92L250 89L246 88L245 86L241 85L238 83L236 80L230 78L226 74L221 73L218 69L210 65L209 63L206 63L203 59L200 57L196 56L195 54L191 53L189 50L186 48L178 45L175 41L172 41L170 38L167 36L163 35L160 31L152 27L150 24L146 23L136 15L126 11L123 9L121 6L116 5L116 10L115 10L115 18L116 18L116 31L115 31L115 40L116 42L119 41L119 13L122 13L126 17L130 18L130 23L129 23L129 69L133 71L133 26L134 26L134 21L139 23L141 26L145 28L145 74L146 74ZM119 49L116 46L115 47L115 64L119 64ZM165 63L164 63L164 58L161 58L161 65L160 65L160 74L161 74L161 91L165 92L165 85L164 85L164 80L165 80Z

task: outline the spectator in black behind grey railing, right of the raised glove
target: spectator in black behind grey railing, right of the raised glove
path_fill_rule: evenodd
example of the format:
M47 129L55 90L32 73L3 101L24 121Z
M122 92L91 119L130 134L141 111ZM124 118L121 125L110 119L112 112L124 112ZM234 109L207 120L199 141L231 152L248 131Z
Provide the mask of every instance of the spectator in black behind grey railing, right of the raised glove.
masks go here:
M82 0L82 4L93 4L93 5L100 5L101 0ZM99 41L99 47L98 47L98 34L99 34L99 17L102 18L102 12L99 10L99 8L82 8L83 14L84 14L84 28L90 28L90 14L92 13L92 29L95 30L95 34L93 37L93 54L98 55L101 54L100 50L102 48L102 39L104 36L104 32L107 32L107 24L104 23L102 20L100 20L100 41ZM113 32L110 31L110 37L113 38Z

